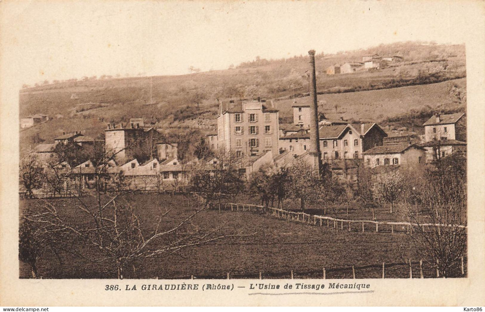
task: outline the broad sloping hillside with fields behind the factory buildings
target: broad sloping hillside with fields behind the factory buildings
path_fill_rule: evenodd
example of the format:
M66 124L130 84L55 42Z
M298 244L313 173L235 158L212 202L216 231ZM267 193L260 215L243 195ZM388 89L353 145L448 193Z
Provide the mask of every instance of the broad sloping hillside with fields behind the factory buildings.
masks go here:
M399 54L404 61L374 72L325 74L327 66L359 61L362 56L376 53ZM425 109L427 114L434 109L463 110L466 103L463 45L396 43L318 54L316 66L317 88L322 93L319 101L329 118L392 123L388 118L409 114L410 110ZM307 56L298 56L282 60L257 58L230 69L190 75L83 77L25 87L19 93L20 117L41 113L51 120L22 130L20 149L21 153L29 150L39 137L51 142L63 131L81 130L97 137L103 135L107 123L135 116L165 130L199 127L204 132L215 126L217 100L274 99L285 121L294 100L308 100L308 82Z

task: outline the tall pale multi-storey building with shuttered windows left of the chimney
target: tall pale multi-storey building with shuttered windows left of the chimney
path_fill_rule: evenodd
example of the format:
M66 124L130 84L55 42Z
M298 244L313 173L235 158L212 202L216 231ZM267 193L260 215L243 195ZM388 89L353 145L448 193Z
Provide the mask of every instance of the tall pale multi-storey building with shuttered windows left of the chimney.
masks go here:
M278 110L264 100L221 103L217 116L217 146L237 157L278 154Z

